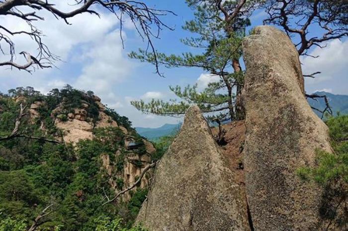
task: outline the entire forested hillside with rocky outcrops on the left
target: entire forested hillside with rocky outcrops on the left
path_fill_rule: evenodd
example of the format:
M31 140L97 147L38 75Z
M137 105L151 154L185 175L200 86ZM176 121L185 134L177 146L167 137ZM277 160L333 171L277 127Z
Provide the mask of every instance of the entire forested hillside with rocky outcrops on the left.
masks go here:
M128 197L102 204L130 186L126 184L132 184L124 177L127 169L139 172L147 164L144 159L151 162L152 157L161 155L161 150L152 150L149 155L147 146L151 143L136 133L128 118L111 109L101 109L95 99L92 92L69 85L53 89L47 95L30 87L1 94L1 231L22 231L35 226L55 231L131 227L146 198L147 181L141 181ZM71 114L77 109L81 113L83 108L87 113L71 118ZM102 113L109 116L110 124L117 125L98 126ZM14 132L16 119L20 125ZM74 121L92 124L92 137L65 142L65 133L71 131L56 124ZM130 142L137 144L136 149L130 150L125 145ZM130 176L136 178L137 173Z

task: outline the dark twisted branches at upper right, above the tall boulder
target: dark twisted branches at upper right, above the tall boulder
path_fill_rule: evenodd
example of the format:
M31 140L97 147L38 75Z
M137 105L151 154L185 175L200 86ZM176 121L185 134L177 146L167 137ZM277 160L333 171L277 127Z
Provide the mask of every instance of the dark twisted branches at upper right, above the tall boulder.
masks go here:
M346 1L268 0L266 13L268 18L263 23L282 27L290 38L299 37L296 44L299 55L308 55L312 46L322 48L322 42L348 36ZM310 37L313 24L324 31L321 36Z

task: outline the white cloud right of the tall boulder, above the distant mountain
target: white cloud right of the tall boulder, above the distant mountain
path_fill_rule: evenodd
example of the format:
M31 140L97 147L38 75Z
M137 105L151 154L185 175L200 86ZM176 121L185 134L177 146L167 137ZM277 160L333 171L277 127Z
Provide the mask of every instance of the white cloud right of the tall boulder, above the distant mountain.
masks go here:
M317 47L310 55L318 58L301 57L302 72L311 74L321 71L315 78L305 78L306 88L311 91L315 89L331 88L334 94L348 93L348 40L330 41L323 49Z

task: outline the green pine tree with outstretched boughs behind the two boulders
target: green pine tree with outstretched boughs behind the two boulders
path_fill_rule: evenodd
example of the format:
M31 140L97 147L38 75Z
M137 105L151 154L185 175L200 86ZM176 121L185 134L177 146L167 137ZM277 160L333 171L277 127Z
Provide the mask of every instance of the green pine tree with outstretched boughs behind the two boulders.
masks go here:
M234 120L244 117L239 96L244 84L244 73L239 63L242 56L241 42L249 16L261 0L186 0L195 9L195 19L187 21L183 29L194 34L181 42L189 47L202 49L200 55L183 53L181 56L148 53L139 50L131 58L144 62L163 64L165 67L200 67L219 81L210 83L203 91L197 85L171 86L171 91L181 101L165 102L153 99L150 103L133 101L131 104L144 113L175 116L184 114L190 104L197 104L211 120Z

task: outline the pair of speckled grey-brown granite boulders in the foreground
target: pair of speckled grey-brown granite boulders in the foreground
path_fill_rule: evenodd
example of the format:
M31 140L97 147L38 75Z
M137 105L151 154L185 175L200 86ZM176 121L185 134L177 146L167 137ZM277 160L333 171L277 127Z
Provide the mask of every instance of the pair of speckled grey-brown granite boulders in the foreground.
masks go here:
M246 120L223 125L217 147L192 106L137 221L153 231L340 230L320 213L323 191L296 175L316 165L317 148L332 149L327 126L305 99L295 47L281 31L261 26L243 48ZM218 128L212 131L216 136Z

